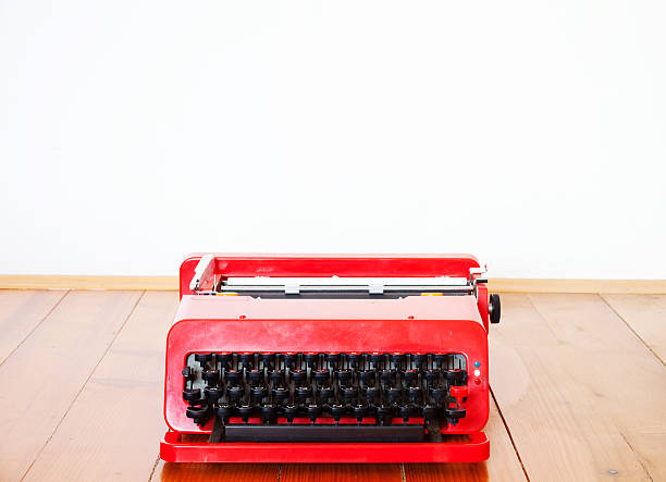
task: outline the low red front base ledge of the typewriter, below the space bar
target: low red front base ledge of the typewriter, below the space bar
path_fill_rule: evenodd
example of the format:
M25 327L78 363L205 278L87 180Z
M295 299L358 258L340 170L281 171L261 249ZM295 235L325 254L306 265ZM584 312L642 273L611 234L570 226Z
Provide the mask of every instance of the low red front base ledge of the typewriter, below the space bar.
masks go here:
M183 442L181 432L166 432L160 457L168 462L478 462L490 457L490 442L484 432L477 432L467 442L215 444Z

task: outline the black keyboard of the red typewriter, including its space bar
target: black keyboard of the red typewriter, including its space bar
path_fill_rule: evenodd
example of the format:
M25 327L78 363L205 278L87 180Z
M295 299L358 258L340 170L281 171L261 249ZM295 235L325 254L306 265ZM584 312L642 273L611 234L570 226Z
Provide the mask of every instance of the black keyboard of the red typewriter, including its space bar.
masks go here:
M234 427L273 427L243 430L239 441L255 440L255 432L262 441L372 441L371 425L383 428L380 440L407 441L395 425L420 427L420 438L423 425L455 425L465 417L466 368L460 354L190 354L184 410L198 425L214 419L226 427L226 438ZM294 424L319 429L282 433Z

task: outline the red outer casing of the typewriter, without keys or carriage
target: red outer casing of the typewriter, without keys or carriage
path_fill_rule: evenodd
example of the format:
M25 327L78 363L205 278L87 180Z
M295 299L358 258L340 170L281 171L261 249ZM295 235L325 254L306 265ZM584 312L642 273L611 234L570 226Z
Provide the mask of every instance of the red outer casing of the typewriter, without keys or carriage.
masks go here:
M181 307L166 341L164 419L166 461L395 462L478 461L489 457L481 432L489 415L488 293L477 296L408 296L397 299L258 299L200 296L189 291L199 256L181 267ZM215 255L215 277L227 276L469 276L479 268L466 255L248 256ZM181 370L187 355L249 353L458 353L469 370L467 417L443 434L467 434L455 443L195 443L206 434L185 416ZM474 370L478 370L478 375ZM355 420L350 420L355 422ZM280 421L279 421L280 422ZM344 422L344 420L341 420Z

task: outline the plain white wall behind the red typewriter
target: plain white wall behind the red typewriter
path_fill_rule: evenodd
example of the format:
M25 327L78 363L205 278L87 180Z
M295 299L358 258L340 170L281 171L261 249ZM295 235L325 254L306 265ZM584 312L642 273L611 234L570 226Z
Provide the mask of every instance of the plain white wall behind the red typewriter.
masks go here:
M666 279L662 1L0 3L0 273Z

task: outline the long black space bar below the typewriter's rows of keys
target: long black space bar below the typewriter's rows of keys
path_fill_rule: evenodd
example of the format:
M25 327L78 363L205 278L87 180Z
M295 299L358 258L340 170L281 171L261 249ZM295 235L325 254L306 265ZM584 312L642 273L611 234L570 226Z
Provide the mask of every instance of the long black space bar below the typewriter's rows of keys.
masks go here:
M423 425L230 424L226 442L423 442Z

